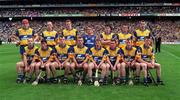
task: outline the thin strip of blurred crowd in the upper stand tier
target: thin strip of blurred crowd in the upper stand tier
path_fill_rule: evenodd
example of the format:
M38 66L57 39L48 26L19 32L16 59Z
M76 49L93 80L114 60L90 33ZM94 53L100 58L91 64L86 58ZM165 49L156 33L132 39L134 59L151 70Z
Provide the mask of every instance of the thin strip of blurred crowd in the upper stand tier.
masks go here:
M38 17L48 14L120 14L120 13L180 13L180 7L118 7L118 8L52 8L1 9L0 16Z

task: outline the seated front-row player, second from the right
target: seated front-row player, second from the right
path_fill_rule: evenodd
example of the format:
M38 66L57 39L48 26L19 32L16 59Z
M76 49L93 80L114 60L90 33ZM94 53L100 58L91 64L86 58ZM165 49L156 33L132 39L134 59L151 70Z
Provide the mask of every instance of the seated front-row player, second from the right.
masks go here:
M121 49L121 53L123 56L123 62L121 63L122 68L122 77L125 79L126 71L125 68L129 69L129 85L133 84L132 78L132 69L136 69L136 82L140 81L140 64L136 61L139 59L139 55L137 54L137 49L132 46L132 41L130 39L126 40L126 46Z

